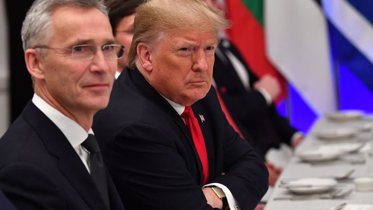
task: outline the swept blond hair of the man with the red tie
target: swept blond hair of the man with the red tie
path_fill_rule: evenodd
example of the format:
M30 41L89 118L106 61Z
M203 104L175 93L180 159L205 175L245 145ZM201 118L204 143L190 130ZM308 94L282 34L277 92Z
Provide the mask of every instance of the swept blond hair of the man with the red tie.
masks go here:
M148 0L136 11L128 66L136 66L140 42L155 44L162 36L179 30L216 33L218 39L218 33L230 25L222 11L209 7L203 0Z

